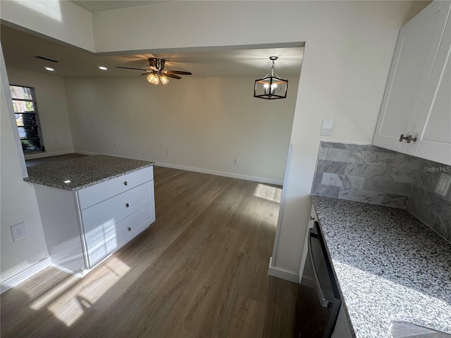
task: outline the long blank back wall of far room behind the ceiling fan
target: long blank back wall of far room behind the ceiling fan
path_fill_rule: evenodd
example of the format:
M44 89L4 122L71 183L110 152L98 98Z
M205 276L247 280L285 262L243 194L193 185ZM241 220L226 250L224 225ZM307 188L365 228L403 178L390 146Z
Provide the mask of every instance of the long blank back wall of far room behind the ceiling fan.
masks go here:
M254 80L66 77L74 149L281 184L298 79L273 101L253 97Z

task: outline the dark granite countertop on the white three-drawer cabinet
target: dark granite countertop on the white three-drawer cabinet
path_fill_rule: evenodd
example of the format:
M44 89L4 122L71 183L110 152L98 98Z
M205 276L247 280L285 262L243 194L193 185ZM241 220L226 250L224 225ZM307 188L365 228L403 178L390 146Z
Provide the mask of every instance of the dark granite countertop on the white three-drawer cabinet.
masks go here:
M84 156L32 166L27 168L28 177L23 180L75 191L153 164L149 161L106 155Z

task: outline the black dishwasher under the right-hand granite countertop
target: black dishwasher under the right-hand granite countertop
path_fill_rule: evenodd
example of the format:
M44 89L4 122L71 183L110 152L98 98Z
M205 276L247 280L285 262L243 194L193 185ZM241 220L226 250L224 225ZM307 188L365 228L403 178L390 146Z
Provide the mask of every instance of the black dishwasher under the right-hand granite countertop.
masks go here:
M309 231L308 244L307 259L311 263L315 287L299 284L295 337L330 338L341 301L318 222Z

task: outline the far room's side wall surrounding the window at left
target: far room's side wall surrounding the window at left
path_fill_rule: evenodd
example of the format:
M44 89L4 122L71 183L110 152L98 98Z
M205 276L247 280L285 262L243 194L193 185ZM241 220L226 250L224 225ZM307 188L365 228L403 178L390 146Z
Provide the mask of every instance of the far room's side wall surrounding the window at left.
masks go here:
M6 71L10 84L35 87L46 155L73 152L63 77L15 67L6 67ZM42 154L37 156L40 157ZM27 154L26 157L36 156Z

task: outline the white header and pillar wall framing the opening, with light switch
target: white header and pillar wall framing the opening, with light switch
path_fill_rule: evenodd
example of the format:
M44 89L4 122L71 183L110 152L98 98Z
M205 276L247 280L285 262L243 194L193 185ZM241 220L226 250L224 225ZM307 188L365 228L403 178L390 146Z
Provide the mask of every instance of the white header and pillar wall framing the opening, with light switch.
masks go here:
M333 137L328 139L371 143L397 33L412 16L412 6L424 5L421 1L168 1L94 13L94 44L96 51L151 51L306 43L290 140L292 165L272 262L274 270L296 280L321 120L335 120ZM171 13L171 20L155 13ZM273 18L276 25L268 29L262 18Z

